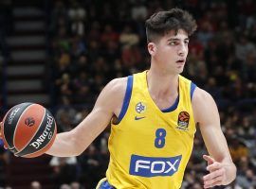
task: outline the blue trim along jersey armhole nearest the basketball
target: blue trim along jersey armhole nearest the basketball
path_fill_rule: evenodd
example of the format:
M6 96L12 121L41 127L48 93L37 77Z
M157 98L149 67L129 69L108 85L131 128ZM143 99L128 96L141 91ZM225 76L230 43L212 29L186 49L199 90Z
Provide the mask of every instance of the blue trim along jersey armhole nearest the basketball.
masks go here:
M134 80L133 76L129 76L127 78L126 92L124 95L121 112L120 112L119 118L118 118L119 122L122 120L123 116L127 112L127 109L128 109L129 103L130 103L130 99L131 99L131 95L132 95L132 90L133 90L133 80Z

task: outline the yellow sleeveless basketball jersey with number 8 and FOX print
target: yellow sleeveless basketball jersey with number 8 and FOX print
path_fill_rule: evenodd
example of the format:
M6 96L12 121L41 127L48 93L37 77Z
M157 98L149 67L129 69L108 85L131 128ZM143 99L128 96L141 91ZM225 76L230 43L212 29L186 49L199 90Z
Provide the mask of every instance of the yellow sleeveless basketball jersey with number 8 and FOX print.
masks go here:
M181 187L195 133L191 97L195 85L185 77L178 79L174 105L159 110L149 94L146 72L128 77L119 124L112 124L108 143L106 177L114 187Z

